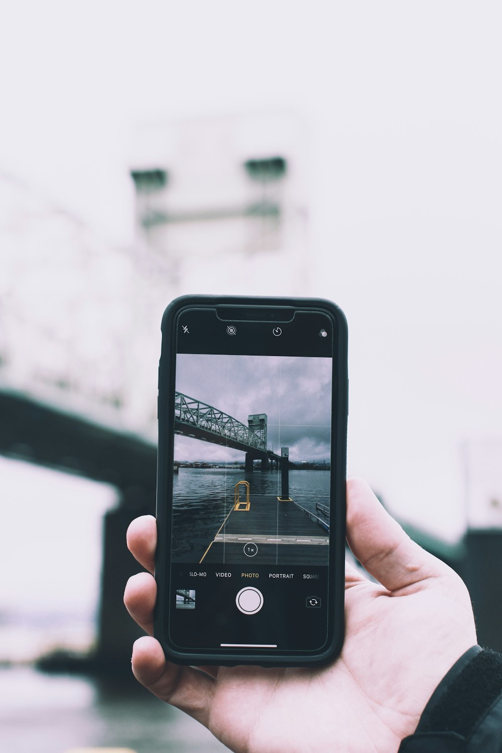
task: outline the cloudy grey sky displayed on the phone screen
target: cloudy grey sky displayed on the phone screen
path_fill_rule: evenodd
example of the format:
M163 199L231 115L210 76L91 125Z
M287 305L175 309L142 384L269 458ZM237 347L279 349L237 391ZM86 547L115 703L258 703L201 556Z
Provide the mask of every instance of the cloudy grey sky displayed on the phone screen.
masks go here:
M267 447L293 461L330 457L330 358L178 354L176 389L248 425L266 413ZM179 461L244 462L244 453L177 435Z

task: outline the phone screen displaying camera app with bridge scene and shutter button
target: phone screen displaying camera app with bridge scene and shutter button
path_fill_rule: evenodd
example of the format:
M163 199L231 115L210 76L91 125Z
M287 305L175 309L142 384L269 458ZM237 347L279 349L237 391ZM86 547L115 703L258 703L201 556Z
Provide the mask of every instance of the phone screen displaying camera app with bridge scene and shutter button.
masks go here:
M169 639L319 651L329 638L333 321L176 322ZM281 318L284 321L281 321Z

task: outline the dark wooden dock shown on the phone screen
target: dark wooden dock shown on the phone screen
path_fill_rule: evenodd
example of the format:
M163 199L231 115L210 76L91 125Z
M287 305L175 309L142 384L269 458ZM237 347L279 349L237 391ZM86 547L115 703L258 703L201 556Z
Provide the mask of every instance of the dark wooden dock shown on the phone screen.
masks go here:
M227 514L200 562L326 565L328 543L327 532L293 500L251 495L248 510L233 507Z

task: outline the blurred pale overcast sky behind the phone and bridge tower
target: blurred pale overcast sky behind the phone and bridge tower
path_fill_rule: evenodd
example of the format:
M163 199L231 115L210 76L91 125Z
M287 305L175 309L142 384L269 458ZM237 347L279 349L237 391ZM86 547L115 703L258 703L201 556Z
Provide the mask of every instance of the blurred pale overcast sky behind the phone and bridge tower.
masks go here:
M300 114L305 292L349 323L348 470L455 537L461 447L502 433L501 21L497 0L19 0L0 25L0 170L126 243L138 127ZM238 272L221 292L249 292Z

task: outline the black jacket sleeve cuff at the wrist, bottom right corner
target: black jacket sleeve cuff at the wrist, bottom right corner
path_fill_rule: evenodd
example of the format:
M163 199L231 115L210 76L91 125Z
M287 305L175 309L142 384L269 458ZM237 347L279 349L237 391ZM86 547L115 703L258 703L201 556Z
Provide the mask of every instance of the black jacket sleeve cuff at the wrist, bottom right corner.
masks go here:
M399 753L502 753L502 655L473 646L443 678Z

